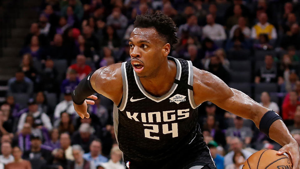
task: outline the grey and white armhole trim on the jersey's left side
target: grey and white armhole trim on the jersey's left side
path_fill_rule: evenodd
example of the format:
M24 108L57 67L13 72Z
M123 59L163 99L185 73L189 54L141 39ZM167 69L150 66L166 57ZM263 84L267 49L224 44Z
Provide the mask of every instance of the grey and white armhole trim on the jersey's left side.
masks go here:
M123 81L123 96L122 96L122 100L119 103L119 107L118 109L123 111L126 107L126 103L127 103L127 99L128 99L128 80L127 80L127 74L126 74L126 63L127 62L123 62L122 66L121 66L121 70L122 70L122 81Z

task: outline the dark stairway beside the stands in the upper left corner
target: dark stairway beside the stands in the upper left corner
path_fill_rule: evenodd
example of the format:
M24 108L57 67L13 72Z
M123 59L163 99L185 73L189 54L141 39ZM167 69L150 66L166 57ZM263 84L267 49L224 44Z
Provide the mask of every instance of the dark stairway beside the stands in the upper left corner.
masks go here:
M20 64L19 52L31 23L37 21L40 0L0 1L0 103L5 100L7 81Z

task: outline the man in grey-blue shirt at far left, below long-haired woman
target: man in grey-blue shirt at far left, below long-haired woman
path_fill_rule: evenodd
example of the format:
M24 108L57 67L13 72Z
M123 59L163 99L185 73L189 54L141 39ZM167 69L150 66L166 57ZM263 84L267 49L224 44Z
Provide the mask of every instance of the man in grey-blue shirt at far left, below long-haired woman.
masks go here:
M24 76L24 72L19 69L16 72L15 77L8 80L8 95L13 95L15 93L24 93L29 96L32 94L33 83L29 78Z

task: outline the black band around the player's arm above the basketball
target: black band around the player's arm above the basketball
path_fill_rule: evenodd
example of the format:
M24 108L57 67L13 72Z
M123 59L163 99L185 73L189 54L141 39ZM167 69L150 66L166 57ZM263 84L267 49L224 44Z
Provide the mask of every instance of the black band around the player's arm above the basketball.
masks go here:
M259 122L259 130L269 137L270 126L278 119L282 120L282 118L275 111L267 111L267 113L262 116L262 119Z

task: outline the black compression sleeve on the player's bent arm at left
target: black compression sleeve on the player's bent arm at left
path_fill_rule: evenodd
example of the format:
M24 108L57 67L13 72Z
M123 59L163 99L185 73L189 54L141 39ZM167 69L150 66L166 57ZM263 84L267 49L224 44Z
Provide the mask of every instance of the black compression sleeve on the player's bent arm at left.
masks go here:
M75 104L82 105L88 96L93 95L94 93L97 93L93 89L91 82L90 82L90 79L94 72L95 71L93 71L92 73L88 74L88 76L83 78L79 82L79 84L77 85L75 90L72 92L72 99Z

